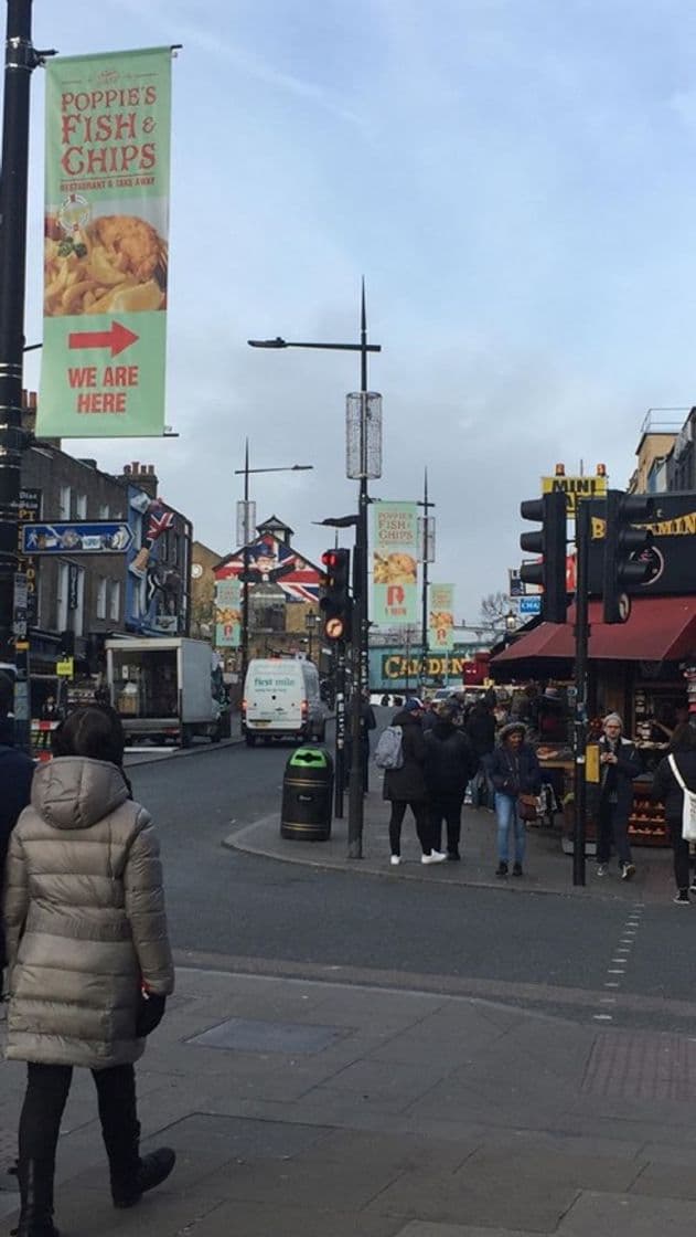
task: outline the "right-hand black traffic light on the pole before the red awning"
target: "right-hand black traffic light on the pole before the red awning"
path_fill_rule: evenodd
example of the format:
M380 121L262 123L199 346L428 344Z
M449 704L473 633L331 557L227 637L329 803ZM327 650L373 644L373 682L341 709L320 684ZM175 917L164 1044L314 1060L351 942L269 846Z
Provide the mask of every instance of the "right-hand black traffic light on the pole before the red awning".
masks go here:
M603 621L626 622L628 605L626 590L632 584L650 579L651 564L645 555L653 541L649 528L634 528L651 518L654 501L643 494L607 490L605 500L605 569L602 593Z

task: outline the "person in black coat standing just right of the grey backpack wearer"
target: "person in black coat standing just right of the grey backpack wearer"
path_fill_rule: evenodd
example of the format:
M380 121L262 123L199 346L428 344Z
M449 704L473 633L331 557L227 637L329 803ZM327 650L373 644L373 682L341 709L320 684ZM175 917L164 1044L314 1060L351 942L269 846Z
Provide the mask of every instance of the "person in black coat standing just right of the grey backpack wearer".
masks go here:
M441 704L434 710L434 722L425 735L425 783L430 798L433 845L440 850L443 820L448 830L448 858L461 858L461 805L466 787L478 761L466 735L455 726L456 706Z

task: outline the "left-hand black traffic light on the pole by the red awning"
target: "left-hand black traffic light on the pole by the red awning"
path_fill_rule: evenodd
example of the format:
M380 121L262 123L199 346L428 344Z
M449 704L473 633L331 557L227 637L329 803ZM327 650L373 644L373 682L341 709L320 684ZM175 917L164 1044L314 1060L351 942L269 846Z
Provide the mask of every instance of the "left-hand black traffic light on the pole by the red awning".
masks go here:
M540 563L523 563L519 579L523 584L540 584L541 618L545 622L565 622L567 597L565 586L565 536L566 502L561 490L544 494L541 499L520 502L523 520L538 520L541 528L537 533L523 533L520 549L528 554L540 554Z

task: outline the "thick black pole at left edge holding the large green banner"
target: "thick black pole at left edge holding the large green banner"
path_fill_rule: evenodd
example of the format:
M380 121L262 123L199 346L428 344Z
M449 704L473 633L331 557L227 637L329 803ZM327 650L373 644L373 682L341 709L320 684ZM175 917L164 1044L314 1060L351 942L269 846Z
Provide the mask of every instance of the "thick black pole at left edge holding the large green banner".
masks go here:
M22 351L30 83L38 63L31 42L31 0L7 0L0 176L0 661L16 668L16 741L26 750L30 746L28 642L26 633L23 638L15 633L15 573L25 447Z

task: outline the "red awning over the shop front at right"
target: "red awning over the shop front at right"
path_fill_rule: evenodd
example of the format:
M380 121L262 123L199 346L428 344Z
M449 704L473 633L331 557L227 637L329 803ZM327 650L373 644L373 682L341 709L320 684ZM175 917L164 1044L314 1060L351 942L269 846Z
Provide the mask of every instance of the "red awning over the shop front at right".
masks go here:
M603 623L602 602L590 602L590 657L596 661L674 662L696 651L696 596L632 597L624 623ZM543 622L492 658L528 662L533 657L572 659L575 606L566 623Z

